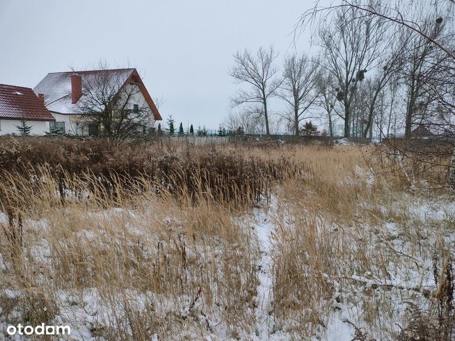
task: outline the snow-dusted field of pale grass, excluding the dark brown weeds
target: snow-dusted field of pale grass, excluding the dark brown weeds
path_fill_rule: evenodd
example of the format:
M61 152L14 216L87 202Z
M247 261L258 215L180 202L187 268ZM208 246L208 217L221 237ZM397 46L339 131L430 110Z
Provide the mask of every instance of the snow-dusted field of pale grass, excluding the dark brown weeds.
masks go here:
M253 208L144 194L24 214L20 255L1 243L0 340L22 340L7 335L12 324L42 322L71 326L70 340L437 333L452 318L452 194L397 185L360 147L299 148L260 156L303 166Z

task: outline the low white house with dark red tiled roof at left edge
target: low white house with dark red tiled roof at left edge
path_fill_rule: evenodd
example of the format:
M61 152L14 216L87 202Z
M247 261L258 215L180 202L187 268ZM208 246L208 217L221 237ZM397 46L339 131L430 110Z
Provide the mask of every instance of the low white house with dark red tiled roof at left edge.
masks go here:
M31 88L0 84L0 135L19 134L17 126L23 121L31 135L45 135L55 119Z

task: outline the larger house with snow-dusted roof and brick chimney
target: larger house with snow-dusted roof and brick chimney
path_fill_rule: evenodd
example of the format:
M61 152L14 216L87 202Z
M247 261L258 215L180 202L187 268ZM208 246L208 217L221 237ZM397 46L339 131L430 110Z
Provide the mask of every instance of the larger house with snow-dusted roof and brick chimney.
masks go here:
M137 91L126 91L137 89ZM90 122L88 111L102 111L106 98L116 93L129 94L125 105L131 110L145 108L149 115L141 118L144 133L161 120L161 115L136 69L100 69L49 73L33 88L44 99L55 122L51 129L71 135L97 135L99 123ZM88 104L90 103L90 104ZM92 106L93 108L91 108Z

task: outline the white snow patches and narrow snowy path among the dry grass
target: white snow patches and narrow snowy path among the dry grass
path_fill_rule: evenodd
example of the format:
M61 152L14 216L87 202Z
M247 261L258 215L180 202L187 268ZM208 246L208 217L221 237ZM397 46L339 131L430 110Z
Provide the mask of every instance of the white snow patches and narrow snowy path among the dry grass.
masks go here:
M355 172L356 176L366 178L369 186L374 184L374 176L369 172L360 169L360 167L356 168ZM274 317L273 313L270 313L271 302L273 301L273 260L271 256L275 247L273 236L279 233L278 215L280 210L282 210L280 205L282 203L278 203L278 197L272 196L269 205L255 208L253 213L246 213L244 217L236 218L239 219L237 222L243 221L246 226L251 226L253 235L256 238L252 243L257 246L260 254L260 258L257 260L257 278L259 283L257 285L257 296L255 297L257 303L256 308L254 308L255 326L251 326L252 328L248 326L246 327L249 328L248 330L246 329L240 333L245 335L248 340L296 339L295 335L285 330L273 331ZM363 206L363 208L367 209L369 203L363 203ZM335 286L335 294L331 298L332 301L328 300L332 308L328 316L323 317L325 328L317 331L317 334L312 338L313 341L350 341L353 339L355 332L353 324L362 328L362 330L366 330L369 326L364 320L360 301L364 290L373 291L373 295L375 293L387 295L391 302L396 302L391 308L390 316L383 318L388 319L385 324L392 325L390 328L397 328L397 326L393 325L394 319L397 319L397 316L404 310L405 299L407 297L417 297L416 301L418 301L419 297L422 297L424 290L434 289L433 259L428 254L425 254L425 248L434 244L436 240L438 242L443 241L453 247L455 245L455 231L437 234L431 231L428 226L454 219L455 202L449 198L445 200L444 198L436 197L436 199L431 200L413 197L413 194L404 194L401 198L395 198L395 201L390 206L384 206L383 210L384 214L390 213L390 210L396 210L396 215L403 215L403 212L407 211L408 217L406 219L415 221L415 224L417 224L415 228L422 239L423 251L417 252L413 250L406 239L406 233L415 233L415 231L409 232L408 226L404 226L399 220L382 222L380 226L363 226L360 224L360 230L365 233L365 236L371 238L368 243L364 244L365 255L368 256L369 252L378 247L380 243L382 246L389 248L387 252L383 253L385 256L390 256L390 258L383 264L382 269L388 273L390 278L379 278L375 273L376 269L355 269L353 274L348 276L348 278L344 278L345 282L343 285L339 278L329 278ZM137 238L149 237L147 230L139 222L141 216L134 210L114 208L100 212L88 212L87 215L97 219L115 219L115 217L127 215L131 217L131 222L133 222L133 224L125 226L129 233ZM184 225L184 221L175 219L175 217L166 217L164 220L168 225ZM0 213L0 224L7 224L7 222L6 215ZM285 219L285 222L288 224L287 227L292 228L292 219L289 219L289 222ZM45 219L32 222L26 221L25 224L34 231L47 228ZM332 231L332 228L329 228L329 230ZM344 233L342 229L333 230L332 232ZM443 235L442 240L440 235ZM83 240L94 242L99 238L99 235L90 231L90 229L84 229L74 233L74 238L82 238ZM29 252L35 260L46 263L51 255L49 249L50 247L46 240L37 239L36 243L30 247ZM220 249L220 254L221 252ZM189 250L187 256L188 258L205 257L204 251L199 251L198 249L196 251ZM6 271L6 267L3 257L0 255L0 272L3 271ZM347 285L346 282L348 283ZM23 294L13 288L6 288L5 290L0 290L0 299L17 299L22 297ZM150 306L150 303L153 303L157 318L160 319L165 319L173 314L180 317L189 315L188 306L192 299L191 297L169 299L166 295L157 295L153 292L141 293L135 290L127 291L127 297L121 296L120 292L113 293L113 295L113 297L108 297L109 300L106 300L106 294L99 292L97 288L85 288L82 292L61 290L61 292L56 293L56 304L59 311L54 318L54 322L61 325L69 324L73 331L73 340L98 340L93 333L96 328L104 328L106 326L115 328L119 321L125 317L125 306L122 305L125 299L138 311L145 310L147 305ZM125 295L125 292L123 292L123 295ZM7 325L6 321L3 320L4 316L1 315L2 309L0 307L0 339L5 338L4 331ZM195 307L195 310L197 309L198 305ZM113 318L114 315L117 317L116 319ZM12 317L20 319L21 313L13 310L8 319ZM204 317L199 313L198 318L201 324L207 321L213 326L213 331L207 331L207 340L226 340L229 338L227 326L225 326L220 315L213 313L213 315ZM129 327L123 326L123 328ZM188 334L190 338L191 335L193 338L200 337L198 334L191 333L190 330ZM381 338L389 338L390 335L374 335L374 337L379 340ZM154 334L152 340L158 340L158 338L159 335Z

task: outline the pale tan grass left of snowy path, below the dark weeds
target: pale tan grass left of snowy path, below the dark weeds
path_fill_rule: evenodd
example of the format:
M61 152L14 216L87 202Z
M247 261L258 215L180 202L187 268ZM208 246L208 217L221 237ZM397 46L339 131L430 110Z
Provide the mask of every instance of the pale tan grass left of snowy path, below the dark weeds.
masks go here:
M17 293L3 299L16 301L23 322L61 317L59 292L71 293L77 307L87 290L95 290L105 313L90 322L90 331L108 340L147 340L155 333L177 340L192 324L210 333L214 315L232 335L253 325L247 310L257 286L257 246L249 226L232 222L234 208L207 199L214 195L207 188L200 188L197 203L189 192L176 198L143 188L115 201L92 192L62 203L53 181L40 174L39 190L15 182L26 194L14 198L24 207L17 213L21 240L0 244L1 290ZM90 188L87 181L79 185ZM17 224L3 223L3 232Z

